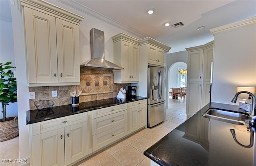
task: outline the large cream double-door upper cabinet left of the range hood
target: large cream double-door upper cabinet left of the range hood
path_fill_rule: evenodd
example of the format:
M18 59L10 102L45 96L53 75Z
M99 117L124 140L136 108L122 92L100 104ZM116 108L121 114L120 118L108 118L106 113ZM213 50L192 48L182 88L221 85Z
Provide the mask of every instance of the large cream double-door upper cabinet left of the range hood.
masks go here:
M80 83L79 23L82 17L44 1L20 1L29 86Z

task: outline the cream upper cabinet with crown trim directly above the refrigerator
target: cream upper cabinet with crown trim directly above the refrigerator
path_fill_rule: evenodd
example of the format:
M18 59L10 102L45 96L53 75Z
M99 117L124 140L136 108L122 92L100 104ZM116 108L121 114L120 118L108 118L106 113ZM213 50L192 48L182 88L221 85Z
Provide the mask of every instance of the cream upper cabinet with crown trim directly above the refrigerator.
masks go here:
M150 37L140 40L140 56L148 57L148 64L164 66L164 53L171 47L160 43Z

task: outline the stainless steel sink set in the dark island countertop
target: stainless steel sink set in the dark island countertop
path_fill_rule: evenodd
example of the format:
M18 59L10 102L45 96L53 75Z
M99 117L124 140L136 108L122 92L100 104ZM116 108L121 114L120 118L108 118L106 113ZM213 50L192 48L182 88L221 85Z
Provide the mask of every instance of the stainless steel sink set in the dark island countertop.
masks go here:
M235 125L245 125L245 120L249 119L249 115L244 113L213 108L209 108L202 116Z

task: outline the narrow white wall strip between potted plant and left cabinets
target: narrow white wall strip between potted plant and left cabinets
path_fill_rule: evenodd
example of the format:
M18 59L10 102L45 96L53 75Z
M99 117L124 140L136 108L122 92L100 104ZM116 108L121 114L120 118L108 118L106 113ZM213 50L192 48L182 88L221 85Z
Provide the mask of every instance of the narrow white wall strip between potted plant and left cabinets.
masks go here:
M19 118L19 145L20 159L29 158L28 125L26 125L26 111L29 110L28 84L26 83L26 62L24 51L24 35L22 16L11 1L12 24L14 38L14 54L16 61L18 118Z

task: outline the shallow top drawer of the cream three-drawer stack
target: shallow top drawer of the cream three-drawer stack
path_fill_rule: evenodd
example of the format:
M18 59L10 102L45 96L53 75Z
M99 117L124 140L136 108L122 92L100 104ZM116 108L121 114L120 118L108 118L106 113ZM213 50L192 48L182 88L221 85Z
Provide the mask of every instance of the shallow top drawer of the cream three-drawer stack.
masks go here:
M112 106L112 107L96 109L96 110L92 111L92 119L95 119L97 117L102 117L102 116L105 116L105 115L109 115L109 114L112 114L112 113L124 111L126 109L127 109L127 104L119 104L119 105L115 105L115 106Z

